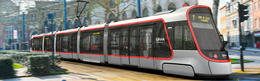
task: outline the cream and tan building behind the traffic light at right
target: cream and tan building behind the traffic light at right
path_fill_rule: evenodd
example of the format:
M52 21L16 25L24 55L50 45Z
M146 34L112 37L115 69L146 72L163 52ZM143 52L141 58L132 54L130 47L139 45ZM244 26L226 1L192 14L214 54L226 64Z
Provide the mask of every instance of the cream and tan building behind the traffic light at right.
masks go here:
M239 17L238 17L238 2L243 5L248 5L249 18L241 23L242 34L247 43L247 47L254 48L256 45L253 32L256 31L256 25L254 23L255 11L253 10L252 0L231 0L225 6L220 8L220 29L224 36L225 41L228 41L229 47L239 47Z

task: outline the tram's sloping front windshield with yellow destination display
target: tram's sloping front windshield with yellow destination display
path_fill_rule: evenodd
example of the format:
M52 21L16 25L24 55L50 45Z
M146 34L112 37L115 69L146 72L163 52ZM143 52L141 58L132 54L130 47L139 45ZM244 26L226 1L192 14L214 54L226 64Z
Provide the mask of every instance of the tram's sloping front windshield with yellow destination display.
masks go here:
M201 50L221 50L221 41L208 8L194 8L189 18Z

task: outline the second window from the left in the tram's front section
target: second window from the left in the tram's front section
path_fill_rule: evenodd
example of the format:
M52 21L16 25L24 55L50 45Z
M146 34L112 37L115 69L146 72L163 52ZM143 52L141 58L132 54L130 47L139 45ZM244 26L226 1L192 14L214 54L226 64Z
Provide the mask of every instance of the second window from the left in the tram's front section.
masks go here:
M128 49L129 49L129 30L128 29L122 29L120 34L120 54L121 55L128 55Z

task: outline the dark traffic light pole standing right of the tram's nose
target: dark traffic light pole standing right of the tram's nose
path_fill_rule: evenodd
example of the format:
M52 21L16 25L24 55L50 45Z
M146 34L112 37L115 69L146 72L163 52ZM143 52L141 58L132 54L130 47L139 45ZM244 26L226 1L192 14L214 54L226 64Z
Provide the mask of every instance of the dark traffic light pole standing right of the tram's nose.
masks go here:
M238 16L239 16L239 43L240 43L240 65L241 71L244 71L244 55L243 50L245 50L246 42L243 37L241 22L244 22L249 18L248 16L248 6L240 4L238 2Z

